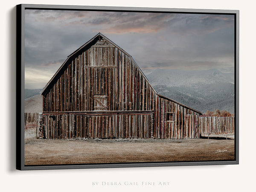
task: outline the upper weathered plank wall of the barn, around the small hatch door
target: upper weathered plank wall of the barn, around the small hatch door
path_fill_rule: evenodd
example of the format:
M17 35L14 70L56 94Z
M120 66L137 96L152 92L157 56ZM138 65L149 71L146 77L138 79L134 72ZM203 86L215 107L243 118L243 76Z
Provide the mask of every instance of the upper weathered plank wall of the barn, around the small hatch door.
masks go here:
M93 95L107 95L107 111L154 110L154 90L121 50L96 44L73 58L44 95L44 112L94 111Z

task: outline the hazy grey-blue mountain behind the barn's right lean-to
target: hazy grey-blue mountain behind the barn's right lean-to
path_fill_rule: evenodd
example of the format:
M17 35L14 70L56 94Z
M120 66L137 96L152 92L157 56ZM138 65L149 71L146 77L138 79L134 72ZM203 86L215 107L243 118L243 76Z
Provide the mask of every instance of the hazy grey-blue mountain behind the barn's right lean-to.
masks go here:
M234 113L234 73L156 69L146 76L159 94L198 111Z

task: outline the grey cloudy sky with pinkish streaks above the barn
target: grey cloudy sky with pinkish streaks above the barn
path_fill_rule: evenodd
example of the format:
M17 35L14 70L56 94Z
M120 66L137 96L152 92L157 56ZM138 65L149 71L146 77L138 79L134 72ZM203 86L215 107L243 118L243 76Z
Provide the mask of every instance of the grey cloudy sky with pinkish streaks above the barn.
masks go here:
M128 52L145 73L234 68L233 15L27 9L25 88L43 88L67 56L98 32Z

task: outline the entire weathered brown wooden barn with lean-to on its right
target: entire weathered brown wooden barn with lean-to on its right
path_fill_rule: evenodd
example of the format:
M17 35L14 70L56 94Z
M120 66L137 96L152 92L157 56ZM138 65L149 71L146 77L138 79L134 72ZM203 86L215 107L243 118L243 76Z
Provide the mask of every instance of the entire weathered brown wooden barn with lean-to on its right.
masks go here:
M201 112L159 95L134 59L98 33L41 91L45 138L198 138Z

